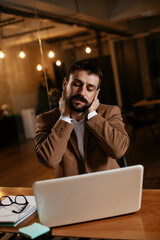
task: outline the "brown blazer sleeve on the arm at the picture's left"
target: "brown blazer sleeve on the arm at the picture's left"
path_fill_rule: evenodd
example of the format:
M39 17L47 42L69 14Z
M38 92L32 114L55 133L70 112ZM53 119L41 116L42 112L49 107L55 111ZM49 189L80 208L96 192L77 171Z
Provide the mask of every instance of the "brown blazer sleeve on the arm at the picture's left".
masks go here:
M62 161L73 125L61 119L50 125L43 115L36 117L35 152L43 165L55 168Z

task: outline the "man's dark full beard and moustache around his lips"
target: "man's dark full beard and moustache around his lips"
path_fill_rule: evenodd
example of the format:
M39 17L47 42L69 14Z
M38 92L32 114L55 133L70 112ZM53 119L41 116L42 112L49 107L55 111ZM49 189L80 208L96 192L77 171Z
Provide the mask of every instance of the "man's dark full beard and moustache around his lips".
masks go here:
M86 105L82 106L81 108L74 106L72 101L75 100L75 99L80 100L80 101L86 103ZM73 110L74 112L78 112L78 113L86 112L86 110L92 105L92 102L89 104L88 101L83 96L81 96L80 94L74 95L74 96L72 96L70 98L66 97L66 103L69 106L69 108L71 110Z

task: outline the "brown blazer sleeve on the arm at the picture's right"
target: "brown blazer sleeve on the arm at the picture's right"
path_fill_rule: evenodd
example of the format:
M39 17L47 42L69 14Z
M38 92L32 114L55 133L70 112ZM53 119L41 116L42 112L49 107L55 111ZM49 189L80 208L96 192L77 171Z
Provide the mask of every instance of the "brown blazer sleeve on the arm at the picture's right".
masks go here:
M86 122L87 128L107 155L121 158L128 149L129 137L119 107L112 106L103 116L97 114Z

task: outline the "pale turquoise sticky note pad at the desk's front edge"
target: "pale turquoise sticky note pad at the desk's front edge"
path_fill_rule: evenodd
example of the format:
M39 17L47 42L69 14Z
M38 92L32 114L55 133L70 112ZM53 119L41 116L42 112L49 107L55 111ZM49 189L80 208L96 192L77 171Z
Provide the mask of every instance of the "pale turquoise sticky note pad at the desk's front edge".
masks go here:
M42 234L45 234L49 231L50 231L49 227L46 227L40 223L33 223L32 225L18 229L18 232L20 234L23 234L26 237L30 237L31 239L39 237Z

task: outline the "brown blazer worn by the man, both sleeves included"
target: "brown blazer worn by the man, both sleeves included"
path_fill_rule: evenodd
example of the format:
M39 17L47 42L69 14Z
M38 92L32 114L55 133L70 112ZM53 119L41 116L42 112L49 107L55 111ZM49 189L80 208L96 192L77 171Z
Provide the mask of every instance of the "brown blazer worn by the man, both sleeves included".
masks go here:
M73 125L60 117L59 109L36 118L35 152L39 161L54 169L54 177L72 176L118 168L129 138L117 106L100 104L97 115L85 123L84 159Z

